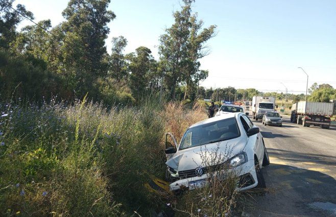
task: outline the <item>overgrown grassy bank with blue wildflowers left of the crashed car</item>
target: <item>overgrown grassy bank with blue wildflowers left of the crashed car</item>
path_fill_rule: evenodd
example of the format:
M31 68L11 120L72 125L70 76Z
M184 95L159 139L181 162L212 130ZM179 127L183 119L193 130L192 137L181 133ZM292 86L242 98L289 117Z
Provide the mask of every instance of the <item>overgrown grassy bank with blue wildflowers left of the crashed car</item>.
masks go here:
M107 110L52 101L0 109L1 216L151 216L173 205L176 215L188 216L209 210L215 198L223 203L219 193L209 197L211 188L175 197L143 187L149 175L164 177L164 132L179 141L187 127L206 118L204 105L144 101Z

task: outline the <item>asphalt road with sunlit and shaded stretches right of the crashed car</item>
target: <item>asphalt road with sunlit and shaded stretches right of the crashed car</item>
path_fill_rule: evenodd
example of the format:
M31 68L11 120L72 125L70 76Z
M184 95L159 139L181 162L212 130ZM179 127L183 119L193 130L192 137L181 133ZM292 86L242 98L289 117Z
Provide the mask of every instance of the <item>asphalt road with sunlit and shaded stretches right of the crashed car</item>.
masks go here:
M252 117L250 117L252 119ZM258 196L253 216L336 216L336 128L303 127L283 118L282 127L255 122L271 164L262 168L269 192ZM314 202L331 204L319 209ZM333 207L333 204L335 207Z

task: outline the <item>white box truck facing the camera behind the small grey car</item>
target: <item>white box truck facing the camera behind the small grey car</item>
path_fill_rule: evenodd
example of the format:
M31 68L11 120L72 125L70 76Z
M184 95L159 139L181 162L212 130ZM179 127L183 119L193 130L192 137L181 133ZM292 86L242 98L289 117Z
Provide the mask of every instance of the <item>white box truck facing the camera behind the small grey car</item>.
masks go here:
M262 119L262 116L267 111L274 111L275 109L275 98L274 97L258 97L254 96L252 98L252 116L253 119Z

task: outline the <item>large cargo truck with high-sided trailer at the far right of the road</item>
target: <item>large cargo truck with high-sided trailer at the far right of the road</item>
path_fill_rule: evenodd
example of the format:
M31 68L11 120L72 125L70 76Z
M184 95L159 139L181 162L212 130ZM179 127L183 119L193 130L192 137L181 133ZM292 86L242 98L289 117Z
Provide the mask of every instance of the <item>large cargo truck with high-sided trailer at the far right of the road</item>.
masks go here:
M292 106L291 122L302 124L304 127L314 125L329 129L333 112L333 103L300 101Z

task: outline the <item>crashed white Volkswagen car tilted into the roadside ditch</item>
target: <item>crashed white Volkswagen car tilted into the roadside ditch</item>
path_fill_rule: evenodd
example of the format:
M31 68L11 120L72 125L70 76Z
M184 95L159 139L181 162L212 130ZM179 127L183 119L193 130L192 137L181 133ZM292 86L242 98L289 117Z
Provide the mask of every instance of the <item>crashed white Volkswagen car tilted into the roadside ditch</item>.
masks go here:
M178 146L174 136L167 133L165 146L166 179L173 191L203 187L209 168L223 170L218 167L223 163L236 172L239 190L266 187L260 168L270 164L269 156L259 128L243 113L225 113L190 126ZM226 153L226 159L217 165L204 165L204 150Z

